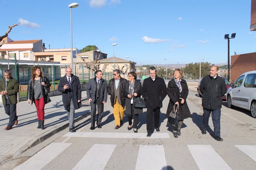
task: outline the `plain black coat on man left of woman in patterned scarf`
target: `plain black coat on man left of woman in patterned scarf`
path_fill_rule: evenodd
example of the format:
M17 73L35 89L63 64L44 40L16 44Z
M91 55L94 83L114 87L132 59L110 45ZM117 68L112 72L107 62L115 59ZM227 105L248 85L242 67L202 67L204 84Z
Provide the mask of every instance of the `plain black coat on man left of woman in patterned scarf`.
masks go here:
M141 94L146 101L146 106L152 109L162 108L162 102L167 95L164 79L158 76L155 77L155 81L151 77L144 79Z

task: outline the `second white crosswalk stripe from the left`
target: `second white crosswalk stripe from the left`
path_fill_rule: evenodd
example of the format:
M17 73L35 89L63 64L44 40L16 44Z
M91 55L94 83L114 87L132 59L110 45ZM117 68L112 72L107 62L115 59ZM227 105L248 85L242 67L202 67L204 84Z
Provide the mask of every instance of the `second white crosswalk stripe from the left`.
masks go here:
M103 170L115 147L116 145L94 144L72 170Z

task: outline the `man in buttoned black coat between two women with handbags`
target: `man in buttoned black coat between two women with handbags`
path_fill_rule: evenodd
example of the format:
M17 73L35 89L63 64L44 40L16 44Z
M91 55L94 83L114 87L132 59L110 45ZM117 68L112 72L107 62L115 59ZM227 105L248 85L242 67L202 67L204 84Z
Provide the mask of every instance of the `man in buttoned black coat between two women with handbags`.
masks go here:
M153 133L153 117L155 129L157 132L159 129L160 108L163 107L163 100L167 95L167 87L164 79L157 76L157 69L150 67L150 77L144 79L141 94L146 101L147 106L147 137L150 137Z

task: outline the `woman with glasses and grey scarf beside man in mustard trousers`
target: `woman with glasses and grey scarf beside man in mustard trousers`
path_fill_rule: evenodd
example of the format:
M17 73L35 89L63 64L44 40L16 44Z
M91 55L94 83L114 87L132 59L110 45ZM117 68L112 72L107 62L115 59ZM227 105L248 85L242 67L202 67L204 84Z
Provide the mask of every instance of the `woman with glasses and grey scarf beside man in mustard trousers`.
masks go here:
M142 109L134 108L133 100L141 96L141 82L136 81L137 74L134 71L128 73L128 81L125 82L122 94L125 96L125 113L128 116L128 130L133 128L134 133L138 133L137 125L139 122L139 114L143 112ZM132 116L133 126L132 126Z

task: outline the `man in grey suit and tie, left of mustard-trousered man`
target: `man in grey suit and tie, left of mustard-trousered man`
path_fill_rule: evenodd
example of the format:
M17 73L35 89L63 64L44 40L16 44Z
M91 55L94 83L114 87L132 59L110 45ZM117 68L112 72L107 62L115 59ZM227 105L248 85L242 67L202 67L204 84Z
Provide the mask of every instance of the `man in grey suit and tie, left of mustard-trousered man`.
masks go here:
M91 105L91 130L95 129L96 106L98 109L97 127L101 128L104 103L108 97L108 86L105 79L102 78L102 71L95 71L95 78L89 80L86 87L86 94Z

